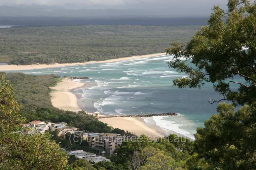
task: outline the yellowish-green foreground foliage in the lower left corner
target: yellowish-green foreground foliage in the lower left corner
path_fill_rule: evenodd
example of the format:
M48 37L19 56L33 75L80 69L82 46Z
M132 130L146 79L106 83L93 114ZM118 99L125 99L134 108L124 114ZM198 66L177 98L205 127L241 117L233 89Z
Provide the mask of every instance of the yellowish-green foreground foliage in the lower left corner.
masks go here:
M24 120L18 114L13 86L0 73L0 169L63 169L67 154L50 134L20 133Z

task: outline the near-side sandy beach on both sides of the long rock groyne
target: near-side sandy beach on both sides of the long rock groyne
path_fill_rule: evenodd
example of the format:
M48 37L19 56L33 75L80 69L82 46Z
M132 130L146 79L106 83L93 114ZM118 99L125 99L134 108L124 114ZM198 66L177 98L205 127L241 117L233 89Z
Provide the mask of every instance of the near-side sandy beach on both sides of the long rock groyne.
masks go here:
M81 111L81 108L78 105L78 95L75 94L75 89L78 88L87 88L91 84L81 83L73 81L72 79L63 78L56 86L51 87L55 91L51 93L51 100L54 107L63 110L69 111ZM87 112L87 111L85 111ZM88 113L88 112L87 112ZM93 113L88 113L93 114ZM102 116L102 115L101 115ZM118 117L118 118L102 118L99 121L107 123L109 126L114 128L120 128L133 132L136 135L145 134L147 136L153 137L162 137L165 136L165 131L156 125L146 124L143 118L127 118L127 117Z

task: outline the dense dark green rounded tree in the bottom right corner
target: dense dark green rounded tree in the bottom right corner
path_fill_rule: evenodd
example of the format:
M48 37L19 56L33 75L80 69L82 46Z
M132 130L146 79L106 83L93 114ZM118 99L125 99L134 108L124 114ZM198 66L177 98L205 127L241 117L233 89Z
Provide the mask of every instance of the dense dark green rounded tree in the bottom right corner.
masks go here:
M217 111L198 128L195 152L221 169L254 169L256 165L256 109L221 103Z

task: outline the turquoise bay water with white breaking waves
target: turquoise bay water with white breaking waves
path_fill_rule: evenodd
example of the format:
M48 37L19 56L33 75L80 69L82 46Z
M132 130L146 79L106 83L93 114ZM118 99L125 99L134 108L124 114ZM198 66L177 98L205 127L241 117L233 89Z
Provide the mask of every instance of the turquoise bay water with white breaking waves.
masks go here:
M186 76L178 74L166 64L172 56L142 58L114 63L87 64L22 71L28 74L52 74L59 76L88 76L80 82L94 82L88 89L76 90L82 94L80 103L89 112L105 115L176 112L179 116L146 118L166 131L194 138L196 127L216 113L218 103L209 104L209 98L222 96L214 92L212 84L201 89L178 89L172 80ZM18 71L16 71L18 72Z

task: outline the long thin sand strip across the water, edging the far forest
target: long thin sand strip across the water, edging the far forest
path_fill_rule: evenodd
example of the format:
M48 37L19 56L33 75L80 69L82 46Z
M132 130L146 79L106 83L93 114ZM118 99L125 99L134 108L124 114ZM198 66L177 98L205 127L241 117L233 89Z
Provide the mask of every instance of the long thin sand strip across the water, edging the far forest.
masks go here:
M123 60L132 60L138 58L145 57L157 57L161 55L165 55L166 53L156 53L156 54L148 54L148 55L140 55L140 56L132 56L132 57L123 57L105 61L89 61L85 63L64 63L64 64L40 64L40 65L1 65L0 71L12 71L12 70L33 70L33 69L44 69L44 68L52 68L52 67L64 67L64 66L75 66L75 65L83 65L83 64L93 64L93 63L109 63L109 62L118 62Z

